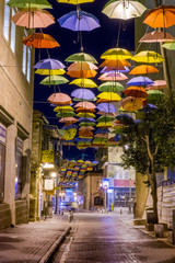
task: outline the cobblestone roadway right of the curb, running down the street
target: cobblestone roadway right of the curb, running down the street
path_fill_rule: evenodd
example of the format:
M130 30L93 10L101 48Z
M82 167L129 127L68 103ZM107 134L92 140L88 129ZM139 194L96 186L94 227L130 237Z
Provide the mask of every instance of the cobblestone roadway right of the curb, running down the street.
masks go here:
M54 263L175 263L175 248L133 228L129 215L74 214Z

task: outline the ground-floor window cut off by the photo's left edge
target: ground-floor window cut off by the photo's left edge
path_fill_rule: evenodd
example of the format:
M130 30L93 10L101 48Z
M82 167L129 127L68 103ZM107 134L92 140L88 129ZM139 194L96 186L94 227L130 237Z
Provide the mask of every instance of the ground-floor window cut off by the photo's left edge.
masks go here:
M0 123L0 203L4 198L5 127Z

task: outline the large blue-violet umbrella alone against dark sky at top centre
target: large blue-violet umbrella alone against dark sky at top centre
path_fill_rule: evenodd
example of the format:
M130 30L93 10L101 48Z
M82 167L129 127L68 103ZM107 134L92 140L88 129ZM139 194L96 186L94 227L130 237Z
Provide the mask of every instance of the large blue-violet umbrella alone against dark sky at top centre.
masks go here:
M58 19L58 23L71 31L92 31L101 26L95 15L84 11L71 11Z

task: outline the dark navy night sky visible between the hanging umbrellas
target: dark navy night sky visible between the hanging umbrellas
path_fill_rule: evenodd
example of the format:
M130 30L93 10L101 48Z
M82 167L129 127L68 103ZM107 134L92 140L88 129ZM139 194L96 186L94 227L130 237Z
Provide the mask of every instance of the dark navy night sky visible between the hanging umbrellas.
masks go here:
M56 0L48 0L52 4L52 10L49 9L48 11L55 16L56 23L48 26L47 28L43 28L43 32L46 34L50 34L60 45L58 48L48 49L49 55L51 58L58 59L63 62L66 66L69 66L65 62L65 59L70 56L71 54L80 52L80 43L78 43L78 33L72 32L67 28L60 27L57 20L62 16L63 14L75 10L74 4L67 4L67 3L58 3ZM94 14L101 23L101 27L95 28L91 32L83 32L83 48L84 53L88 53L95 57L95 59L101 64L102 60L100 59L101 55L116 46L117 44L117 35L119 28L119 20L112 20L105 14L102 13L104 5L106 4L107 0L95 0L92 3L83 3L81 4L81 10ZM121 31L119 36L119 47L126 48L130 52L135 50L135 20L127 20L122 21ZM36 49L35 62L39 59L48 58L48 54L46 49L42 49L40 52ZM58 123L58 118L55 118L54 108L49 106L47 103L47 98L54 93L54 88L48 88L46 85L40 85L39 82L46 76L35 75L35 88L34 88L34 108L44 113L44 115L48 118L49 123L52 125L58 125L61 128L62 125ZM65 75L66 78L70 79L69 76ZM94 79L97 84L101 82ZM61 84L60 90L62 93L70 93L78 87ZM97 89L93 89L94 90ZM57 90L58 91L58 90ZM39 102L39 103L38 103ZM88 156L85 159L91 159L91 156L94 155L94 149L89 148L86 150L78 150L75 147L65 147L65 157L67 158L81 158L81 153L84 152ZM93 153L93 155L92 155Z

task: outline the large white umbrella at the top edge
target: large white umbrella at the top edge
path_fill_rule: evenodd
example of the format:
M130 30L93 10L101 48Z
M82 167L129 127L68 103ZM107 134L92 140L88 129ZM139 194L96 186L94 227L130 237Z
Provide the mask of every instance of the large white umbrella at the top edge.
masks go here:
M147 8L138 1L110 0L105 4L102 12L109 19L129 20L141 16L145 10Z

